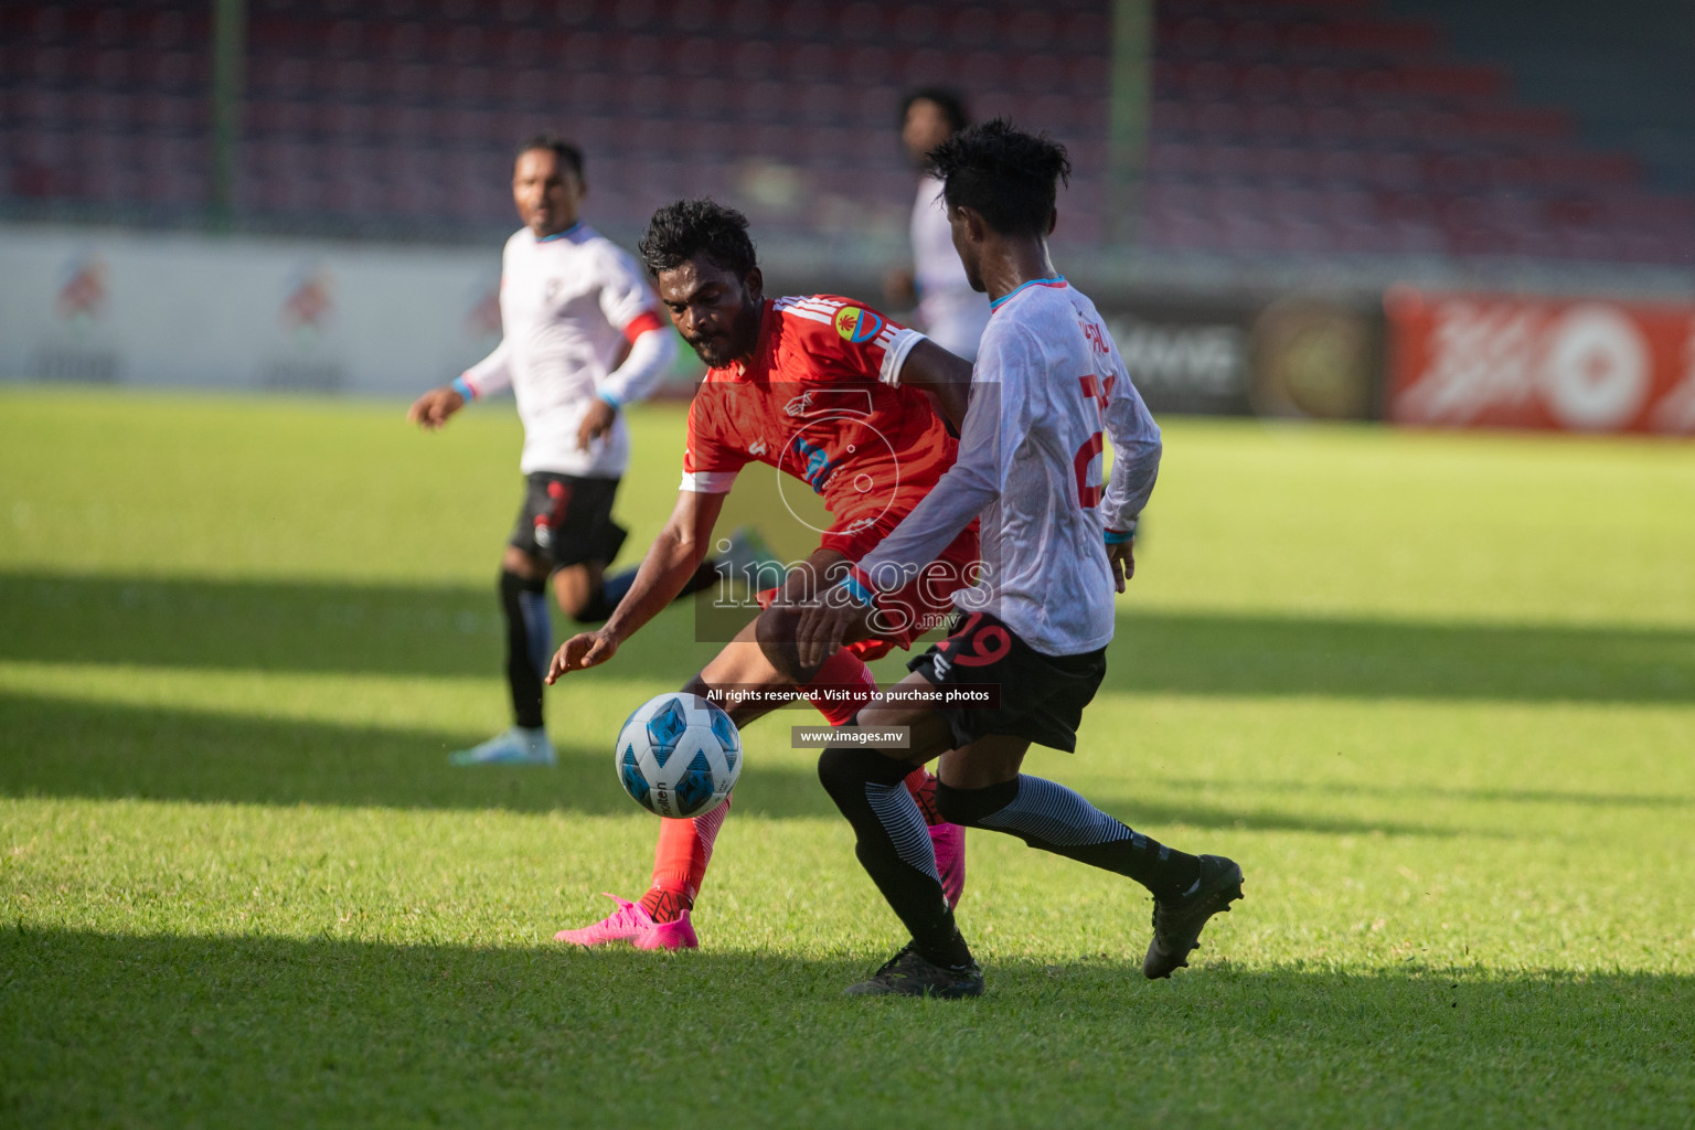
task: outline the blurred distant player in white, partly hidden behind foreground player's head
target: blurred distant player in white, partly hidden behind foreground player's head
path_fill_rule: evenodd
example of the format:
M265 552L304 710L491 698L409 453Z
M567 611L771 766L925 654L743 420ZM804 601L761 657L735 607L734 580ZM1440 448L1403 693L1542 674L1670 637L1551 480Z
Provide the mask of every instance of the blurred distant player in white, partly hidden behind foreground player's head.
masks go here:
M968 124L964 103L951 90L922 86L900 107L900 144L922 169L912 205L912 273L890 278L893 293L910 290L917 327L948 352L976 357L988 325L988 296L971 290L954 251L942 207L942 183L929 168L929 152Z

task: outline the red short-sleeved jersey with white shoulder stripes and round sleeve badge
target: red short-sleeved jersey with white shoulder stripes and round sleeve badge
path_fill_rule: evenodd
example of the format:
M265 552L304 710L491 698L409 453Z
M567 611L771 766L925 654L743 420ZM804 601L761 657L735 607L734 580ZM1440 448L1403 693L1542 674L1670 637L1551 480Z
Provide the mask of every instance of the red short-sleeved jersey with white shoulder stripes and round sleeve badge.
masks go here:
M919 341L849 298L768 300L753 357L695 395L683 490L722 495L747 463L773 466L824 496L824 547L858 561L958 452L929 396L900 385Z

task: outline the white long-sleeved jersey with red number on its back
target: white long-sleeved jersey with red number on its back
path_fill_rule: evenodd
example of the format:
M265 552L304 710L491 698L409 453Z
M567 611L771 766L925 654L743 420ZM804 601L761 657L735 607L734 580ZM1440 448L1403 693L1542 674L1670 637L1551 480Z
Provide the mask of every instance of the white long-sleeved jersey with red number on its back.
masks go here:
M1102 429L1112 483L1102 488ZM1159 471L1159 427L1095 303L1063 278L995 303L971 374L959 457L854 576L890 591L983 518L983 578L954 595L1048 656L1105 647L1114 627L1105 530L1125 530Z

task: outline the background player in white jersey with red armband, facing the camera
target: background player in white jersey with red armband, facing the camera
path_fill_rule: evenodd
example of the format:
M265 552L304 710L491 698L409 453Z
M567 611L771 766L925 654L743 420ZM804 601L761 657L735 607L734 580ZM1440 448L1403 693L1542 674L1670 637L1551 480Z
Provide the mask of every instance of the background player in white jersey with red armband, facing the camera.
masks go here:
M417 398L408 420L439 429L503 388L524 420L524 503L500 561L512 728L451 756L454 764L553 764L542 676L553 656L547 578L573 620L605 620L634 571L605 576L624 530L612 498L629 463L620 408L646 396L676 344L636 261L578 212L583 156L556 137L519 146L512 200L524 227L500 264L500 346L451 385ZM710 562L693 591L714 574Z

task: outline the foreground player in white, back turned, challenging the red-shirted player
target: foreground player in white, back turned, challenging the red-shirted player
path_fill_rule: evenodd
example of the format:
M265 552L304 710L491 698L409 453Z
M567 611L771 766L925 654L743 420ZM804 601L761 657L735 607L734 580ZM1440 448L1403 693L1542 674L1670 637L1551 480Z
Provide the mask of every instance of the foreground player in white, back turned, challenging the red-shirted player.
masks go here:
M1148 978L1188 964L1202 927L1241 898L1242 871L1190 856L1019 769L1032 744L1071 752L1083 706L1107 669L1114 590L1134 573L1136 520L1159 468L1159 429L1088 298L1061 278L1048 235L1064 149L1005 122L942 142L953 241L971 285L995 305L971 376L959 457L905 520L820 600L793 608L795 678L834 654L881 595L905 584L981 515L985 573L954 595L953 634L915 657L895 690L997 686L985 708L873 701L859 727L910 727L910 749L824 751L819 776L858 835L858 857L912 942L849 993L976 996L983 974L954 927L924 823L900 781L941 757L946 820L992 828L1136 879L1154 896ZM1102 430L1112 481L1102 486Z

